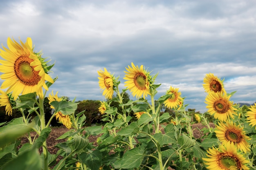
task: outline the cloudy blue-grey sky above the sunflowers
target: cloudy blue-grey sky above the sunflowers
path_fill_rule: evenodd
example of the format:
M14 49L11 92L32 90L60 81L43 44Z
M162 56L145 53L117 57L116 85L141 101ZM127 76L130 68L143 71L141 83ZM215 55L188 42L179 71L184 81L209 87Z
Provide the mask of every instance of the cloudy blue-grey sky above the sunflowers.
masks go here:
M225 78L234 103L256 101L254 0L0 0L0 42L26 41L55 62L49 91L104 100L97 71L120 76L133 62L156 79L156 98L179 88L188 108L207 111L207 73ZM1 47L2 48L2 47ZM130 99L134 99L129 93ZM149 99L149 98L148 98Z

